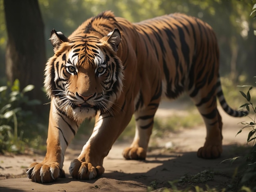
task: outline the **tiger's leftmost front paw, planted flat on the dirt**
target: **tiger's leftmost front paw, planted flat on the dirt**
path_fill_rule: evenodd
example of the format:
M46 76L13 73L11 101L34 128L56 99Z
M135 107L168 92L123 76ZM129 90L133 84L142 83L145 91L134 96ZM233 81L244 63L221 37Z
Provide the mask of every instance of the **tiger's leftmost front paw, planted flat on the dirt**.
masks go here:
M65 177L65 172L55 163L32 163L27 170L27 176L35 182L49 183L58 177Z

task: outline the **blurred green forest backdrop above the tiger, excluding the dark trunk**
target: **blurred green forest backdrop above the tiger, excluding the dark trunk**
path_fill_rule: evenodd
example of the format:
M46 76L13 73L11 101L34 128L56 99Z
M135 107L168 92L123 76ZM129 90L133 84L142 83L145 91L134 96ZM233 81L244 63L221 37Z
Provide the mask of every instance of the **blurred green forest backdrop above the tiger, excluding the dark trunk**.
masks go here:
M22 1L22 4L26 1ZM1 83L7 80L5 53L8 42L3 2L4 0L0 0ZM23 8L24 12L33 12L28 9L29 7L18 6L15 2L19 0L7 0L7 2L12 2L11 14L17 22L24 16L20 15L21 11L14 11L16 6L18 9ZM43 18L45 61L53 54L52 45L48 40L53 28L68 36L84 20L104 10L112 10L116 16L124 17L131 22L181 12L198 17L213 27L220 46L221 76L230 75L234 81L237 81L241 74L247 76L247 80L252 80L252 76L255 76L256 37L252 29L256 29L256 22L249 17L253 6L252 0L38 0L38 3ZM28 29L20 27L16 33L22 34L22 31L26 31L32 36L35 28L36 26L30 26ZM43 79L43 76L38 76L39 78Z

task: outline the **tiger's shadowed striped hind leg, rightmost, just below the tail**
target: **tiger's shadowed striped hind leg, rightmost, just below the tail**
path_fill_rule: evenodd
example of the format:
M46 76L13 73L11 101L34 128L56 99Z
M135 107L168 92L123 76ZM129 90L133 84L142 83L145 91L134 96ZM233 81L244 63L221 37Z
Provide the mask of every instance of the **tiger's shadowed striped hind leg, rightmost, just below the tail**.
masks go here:
M216 96L208 94L200 100L192 99L202 115L207 129L206 141L204 146L198 149L197 156L203 159L218 158L222 153L222 121L217 109Z

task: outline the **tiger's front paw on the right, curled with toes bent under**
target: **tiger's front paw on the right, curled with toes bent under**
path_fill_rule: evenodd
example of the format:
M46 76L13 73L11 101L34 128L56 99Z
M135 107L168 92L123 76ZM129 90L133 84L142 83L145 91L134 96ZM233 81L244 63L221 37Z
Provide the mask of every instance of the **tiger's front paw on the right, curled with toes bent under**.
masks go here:
M94 167L92 163L86 163L74 159L70 164L70 174L74 179L88 180L101 176L104 173L102 166Z

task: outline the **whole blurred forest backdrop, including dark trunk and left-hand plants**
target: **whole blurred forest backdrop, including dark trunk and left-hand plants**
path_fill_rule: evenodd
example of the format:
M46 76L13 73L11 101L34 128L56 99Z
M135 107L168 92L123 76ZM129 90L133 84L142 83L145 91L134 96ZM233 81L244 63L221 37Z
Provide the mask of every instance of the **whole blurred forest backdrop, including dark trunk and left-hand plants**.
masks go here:
M40 114L42 107L46 118L49 114L49 105L42 105L47 103L42 87L44 65L53 55L48 40L50 31L54 28L69 36L84 20L105 10L131 22L174 12L198 17L216 32L220 75L231 86L254 82L256 21L250 13L255 3L255 0L0 0L0 126L9 126L0 127L0 131L16 138L22 137L23 129L29 130L26 135L38 136L40 127L45 132L45 127L38 125L42 117L33 114ZM15 40L20 47L13 43ZM10 68L13 62L15 67ZM27 87L29 84L35 86ZM28 98L26 92L35 94ZM25 104L32 108L20 109ZM0 152L1 141L8 140L3 135L0 134Z

